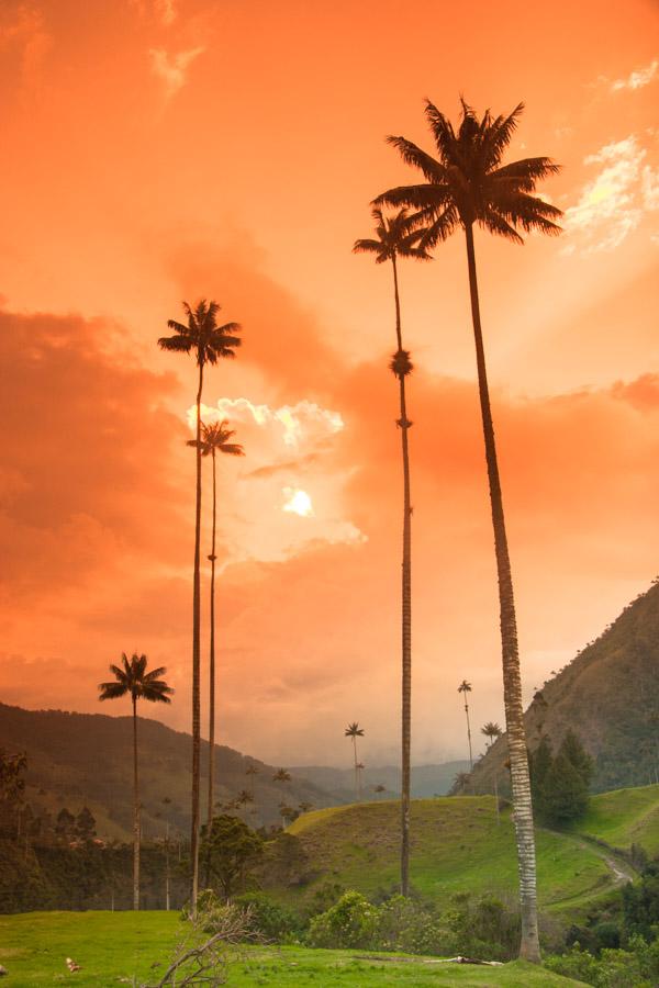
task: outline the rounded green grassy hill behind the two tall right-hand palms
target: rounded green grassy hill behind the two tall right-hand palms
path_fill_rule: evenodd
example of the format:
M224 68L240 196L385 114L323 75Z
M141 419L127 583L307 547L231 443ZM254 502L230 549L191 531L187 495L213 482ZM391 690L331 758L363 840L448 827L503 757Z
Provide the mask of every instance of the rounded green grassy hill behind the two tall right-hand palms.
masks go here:
M659 810L656 789L652 798ZM592 837L601 837L596 820L602 817L597 802L602 798L593 801L589 817ZM280 883L272 891L291 901L311 898L327 883L358 889L369 897L394 891L399 882L399 804L387 801L333 807L300 817L287 832L300 841L310 868L308 880L300 885L298 879L289 887ZM490 891L504 898L516 895L517 862L510 810L502 812L498 823L492 797L414 800L411 827L411 883L422 896L445 901L459 891ZM541 908L580 909L610 891L619 884L622 874L624 880L625 865L614 858L577 831L538 829Z

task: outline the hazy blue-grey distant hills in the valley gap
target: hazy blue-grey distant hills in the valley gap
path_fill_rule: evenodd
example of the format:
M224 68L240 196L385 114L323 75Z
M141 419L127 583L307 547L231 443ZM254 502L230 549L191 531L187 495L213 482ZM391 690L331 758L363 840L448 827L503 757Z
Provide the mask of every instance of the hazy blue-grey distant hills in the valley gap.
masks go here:
M413 799L445 796L459 772L467 772L469 762L442 762L438 765L412 765L411 793ZM331 768L325 765L300 765L291 768L322 789L333 793L337 802L355 799L355 770ZM376 793L375 786L384 786L384 793ZM401 791L401 770L398 765L366 767L362 771L364 799L387 799Z

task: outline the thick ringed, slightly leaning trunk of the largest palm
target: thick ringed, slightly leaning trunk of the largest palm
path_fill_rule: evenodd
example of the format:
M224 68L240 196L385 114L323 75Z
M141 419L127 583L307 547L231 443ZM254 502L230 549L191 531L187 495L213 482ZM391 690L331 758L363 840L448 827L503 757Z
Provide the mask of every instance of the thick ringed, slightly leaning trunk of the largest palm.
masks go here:
M478 282L476 277L476 255L473 250L473 229L465 226L467 237L467 261L469 266L469 291L471 294L471 315L476 343L476 360L478 367L478 389L480 396L485 460L490 483L490 503L492 508L492 526L494 529L494 552L499 579L499 603L501 611L501 645L503 661L503 699L505 706L505 723L509 736L511 761L511 782L513 789L513 808L515 820L515 838L517 843L517 862L520 867L520 905L522 912L522 942L520 956L526 961L539 962L540 946L538 941L538 920L536 900L536 857L535 837L533 830L533 806L528 778L528 756L526 750L526 731L524 729L524 710L522 707L522 680L520 675L520 655L517 650L517 625L513 580L509 557L505 521L503 516L503 498L496 461L494 427L490 409L490 394L485 371L485 355L480 322Z

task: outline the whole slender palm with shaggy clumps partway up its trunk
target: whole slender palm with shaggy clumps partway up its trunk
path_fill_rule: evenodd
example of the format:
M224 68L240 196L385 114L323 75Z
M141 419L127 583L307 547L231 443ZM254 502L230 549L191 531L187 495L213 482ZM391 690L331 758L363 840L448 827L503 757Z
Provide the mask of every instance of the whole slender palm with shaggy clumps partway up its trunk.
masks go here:
M431 255L415 246L423 231L410 233L406 229L407 210L402 209L393 216L384 216L382 210L376 207L372 210L371 215L377 223L375 238L356 240L353 250L358 254L375 255L377 265L382 265L390 260L393 274L396 349L391 358L389 368L399 381L400 418L396 425L401 430L403 454L401 892L403 896L406 896L410 884L410 748L412 728L412 504L407 430L412 423L407 418L405 378L412 373L413 364L410 359L410 351L403 349L396 258L412 257L416 260L431 260Z

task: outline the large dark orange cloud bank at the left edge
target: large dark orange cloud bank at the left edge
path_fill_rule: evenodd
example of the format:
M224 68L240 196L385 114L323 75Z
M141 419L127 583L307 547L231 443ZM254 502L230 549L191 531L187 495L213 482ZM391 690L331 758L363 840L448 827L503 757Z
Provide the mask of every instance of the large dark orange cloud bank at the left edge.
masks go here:
M122 553L148 565L161 558L159 524L177 528L171 453L185 430L164 408L175 378L134 366L118 339L102 319L0 312L8 593L65 594Z

